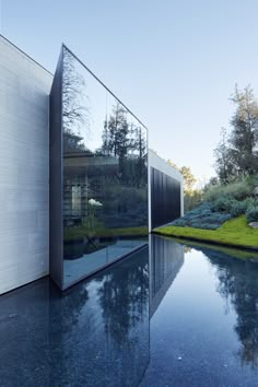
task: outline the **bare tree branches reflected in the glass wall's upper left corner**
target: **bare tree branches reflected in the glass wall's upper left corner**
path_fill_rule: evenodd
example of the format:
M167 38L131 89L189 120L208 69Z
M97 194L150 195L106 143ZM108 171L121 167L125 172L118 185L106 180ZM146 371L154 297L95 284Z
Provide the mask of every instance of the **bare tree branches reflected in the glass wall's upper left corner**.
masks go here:
M62 127L64 151L84 151L80 137L81 129L87 125L85 80L75 66L75 58L63 48L62 71Z

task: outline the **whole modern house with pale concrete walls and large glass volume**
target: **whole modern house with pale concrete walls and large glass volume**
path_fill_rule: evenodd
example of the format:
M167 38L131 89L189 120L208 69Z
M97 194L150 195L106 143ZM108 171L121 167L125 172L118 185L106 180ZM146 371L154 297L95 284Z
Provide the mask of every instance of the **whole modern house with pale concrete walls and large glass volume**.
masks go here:
M55 75L0 36L0 294L61 290L184 212L145 126L62 45Z

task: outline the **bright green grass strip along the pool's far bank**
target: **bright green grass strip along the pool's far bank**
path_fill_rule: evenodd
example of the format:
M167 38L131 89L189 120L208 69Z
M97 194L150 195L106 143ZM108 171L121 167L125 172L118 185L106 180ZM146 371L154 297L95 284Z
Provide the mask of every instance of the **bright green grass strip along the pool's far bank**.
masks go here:
M167 225L154 228L153 232L161 235L207 241L221 245L238 246L258 250L258 228L249 227L246 223L245 215L232 219L216 230L200 230Z

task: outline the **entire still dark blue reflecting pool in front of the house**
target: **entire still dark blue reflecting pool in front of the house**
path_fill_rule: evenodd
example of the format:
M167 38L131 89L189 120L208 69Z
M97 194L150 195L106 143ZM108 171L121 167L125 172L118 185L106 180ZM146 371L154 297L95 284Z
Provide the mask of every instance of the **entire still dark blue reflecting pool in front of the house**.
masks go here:
M237 258L236 258L237 257ZM258 386L258 256L151 236L63 295L0 297L0 386Z

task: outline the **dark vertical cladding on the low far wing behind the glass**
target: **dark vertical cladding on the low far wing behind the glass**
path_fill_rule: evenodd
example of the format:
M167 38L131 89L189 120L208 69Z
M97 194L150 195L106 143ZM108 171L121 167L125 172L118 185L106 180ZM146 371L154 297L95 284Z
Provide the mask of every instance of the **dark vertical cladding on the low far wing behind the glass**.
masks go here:
M180 181L151 167L151 226L180 216Z

